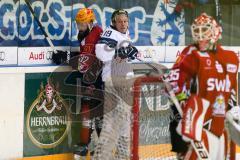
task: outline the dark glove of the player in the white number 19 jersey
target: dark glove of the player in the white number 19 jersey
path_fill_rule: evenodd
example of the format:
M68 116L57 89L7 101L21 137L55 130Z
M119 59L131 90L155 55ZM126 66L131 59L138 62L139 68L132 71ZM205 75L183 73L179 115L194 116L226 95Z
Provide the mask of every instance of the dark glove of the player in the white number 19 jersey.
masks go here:
M136 47L129 45L127 47L121 47L115 51L115 58L119 57L121 59L128 58L129 60L134 60L137 57L138 50Z

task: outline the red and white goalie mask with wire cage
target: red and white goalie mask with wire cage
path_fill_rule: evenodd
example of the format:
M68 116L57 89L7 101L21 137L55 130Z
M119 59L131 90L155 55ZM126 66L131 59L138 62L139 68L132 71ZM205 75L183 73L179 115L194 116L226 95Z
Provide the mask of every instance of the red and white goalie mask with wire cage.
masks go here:
M191 31L193 40L198 44L199 42L205 41L213 45L221 38L222 34L221 26L218 25L213 17L206 13L202 13L194 20ZM208 45L205 50L211 49L210 45Z

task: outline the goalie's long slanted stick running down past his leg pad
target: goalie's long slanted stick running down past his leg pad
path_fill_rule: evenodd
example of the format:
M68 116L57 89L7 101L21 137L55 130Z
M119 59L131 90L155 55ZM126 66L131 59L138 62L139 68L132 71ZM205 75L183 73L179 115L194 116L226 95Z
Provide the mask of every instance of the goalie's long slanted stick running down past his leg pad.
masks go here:
M144 62L143 60L141 60L139 58L136 58L136 59L141 61L141 62ZM155 66L151 65L150 63L145 63L145 64L147 66L151 67L156 73L160 74L159 70ZM164 80L163 78L162 78L162 81L163 81L163 83L164 83L164 85L167 89L167 92L169 94L169 97L170 97L171 101L174 103L176 109L178 110L179 115L181 117L183 117L182 108L181 108L181 106L180 106L180 104L179 104L179 102L178 102L178 100L175 96L174 91L171 88L171 85L169 84L168 81ZM190 142L191 142L191 146L193 147L194 151L196 152L199 160L210 160L209 153L208 153L205 145L203 144L203 142L194 141L194 140L191 140Z

